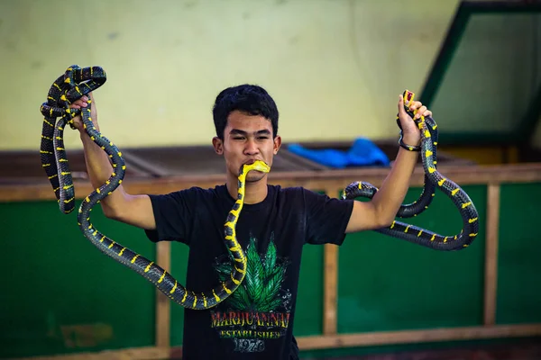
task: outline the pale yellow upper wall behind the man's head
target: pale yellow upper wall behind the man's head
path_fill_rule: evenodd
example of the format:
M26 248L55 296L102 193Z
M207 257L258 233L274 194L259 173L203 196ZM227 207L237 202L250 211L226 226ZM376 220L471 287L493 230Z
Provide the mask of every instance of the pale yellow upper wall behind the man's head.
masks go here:
M286 141L396 136L398 95L420 91L457 4L0 0L0 148L39 147L71 64L105 68L96 104L119 147L210 144L215 95L244 82L275 97Z

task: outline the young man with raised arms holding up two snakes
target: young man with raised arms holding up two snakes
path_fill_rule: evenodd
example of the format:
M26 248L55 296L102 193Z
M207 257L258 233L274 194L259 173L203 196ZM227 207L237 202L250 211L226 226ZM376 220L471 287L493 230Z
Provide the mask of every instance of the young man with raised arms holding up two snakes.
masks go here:
M96 103L92 119L96 122ZM86 106L84 97L72 107ZM403 109L403 141L418 145L420 132ZM411 110L431 115L416 102ZM122 185L101 202L105 215L146 231L151 241L179 241L189 247L186 286L195 292L214 288L229 274L231 260L224 244L224 222L237 196L243 164L262 160L272 166L280 150L279 112L271 95L256 85L225 89L213 109L218 155L224 157L226 182L212 189L193 187L175 193L133 195ZM96 188L112 167L105 152L80 130L87 171ZM99 130L96 123L96 129ZM408 191L417 152L399 148L380 191L370 202L344 201L303 188L267 183L267 174L252 171L246 179L244 206L236 236L248 259L241 287L225 302L206 311L185 311L183 358L296 359L293 337L298 273L305 244L341 245L346 233L389 226Z

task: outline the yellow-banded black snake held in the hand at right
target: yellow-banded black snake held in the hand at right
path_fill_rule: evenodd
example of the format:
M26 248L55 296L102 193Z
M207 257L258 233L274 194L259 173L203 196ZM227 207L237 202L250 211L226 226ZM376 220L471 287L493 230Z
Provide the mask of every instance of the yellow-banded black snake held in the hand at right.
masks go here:
M408 112L408 115L414 118L417 110L415 112L409 111L409 105L413 103L415 94L406 90L403 95L404 108ZM402 148L407 148L410 151L421 151L422 164L425 171L425 185L423 192L416 202L400 206L397 217L409 218L425 211L430 202L432 202L436 188L438 188L454 202L454 205L461 214L463 229L458 235L443 236L405 222L393 221L390 227L377 229L376 231L436 250L452 251L463 249L464 247L468 247L473 239L477 237L479 214L470 196L458 184L455 184L452 180L440 174L436 169L436 121L432 117L425 116L421 116L420 119L415 119L415 121L421 131L421 145L412 147L403 143L402 128L397 115L397 122L400 127L399 144ZM342 198L355 199L357 197L365 197L371 199L377 191L378 188L372 184L356 181L345 187Z

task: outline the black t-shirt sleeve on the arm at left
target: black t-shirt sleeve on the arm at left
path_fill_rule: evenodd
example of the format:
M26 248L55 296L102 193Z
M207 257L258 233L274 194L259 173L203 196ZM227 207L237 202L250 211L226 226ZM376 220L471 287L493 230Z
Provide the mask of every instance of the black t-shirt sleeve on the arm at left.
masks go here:
M189 245L195 216L197 189L190 188L167 194L149 194L156 229L145 229L153 241L179 241Z

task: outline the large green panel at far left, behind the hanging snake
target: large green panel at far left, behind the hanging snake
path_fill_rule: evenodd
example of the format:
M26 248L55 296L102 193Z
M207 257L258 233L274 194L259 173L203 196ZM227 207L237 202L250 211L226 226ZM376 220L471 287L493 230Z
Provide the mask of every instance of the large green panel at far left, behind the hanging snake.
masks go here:
M103 255L56 202L0 203L0 357L67 354L154 344L154 287ZM91 221L142 256L156 251L139 229Z

